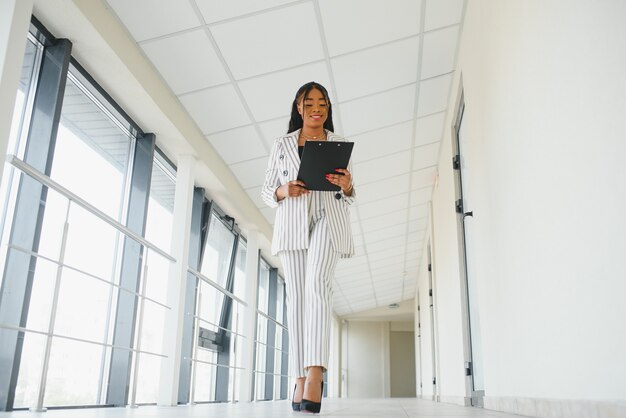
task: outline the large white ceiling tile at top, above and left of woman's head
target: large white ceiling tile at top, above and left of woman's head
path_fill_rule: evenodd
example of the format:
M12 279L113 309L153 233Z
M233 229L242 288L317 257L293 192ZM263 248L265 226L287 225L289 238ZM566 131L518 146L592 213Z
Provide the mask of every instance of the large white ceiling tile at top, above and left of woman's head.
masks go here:
M211 32L233 76L241 79L323 59L317 25L303 26L302 17L314 15L307 2L219 23Z

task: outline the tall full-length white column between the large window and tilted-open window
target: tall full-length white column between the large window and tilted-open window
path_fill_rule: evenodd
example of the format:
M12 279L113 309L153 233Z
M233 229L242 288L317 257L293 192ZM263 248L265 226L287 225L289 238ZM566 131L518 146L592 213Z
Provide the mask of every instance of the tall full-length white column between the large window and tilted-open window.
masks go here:
M167 358L161 362L161 381L157 400L160 406L176 406L178 403L195 163L196 160L191 155L182 155L178 158L170 252L176 262L171 264L169 271L167 304L171 310L166 313L163 332L166 336L163 341L163 353Z

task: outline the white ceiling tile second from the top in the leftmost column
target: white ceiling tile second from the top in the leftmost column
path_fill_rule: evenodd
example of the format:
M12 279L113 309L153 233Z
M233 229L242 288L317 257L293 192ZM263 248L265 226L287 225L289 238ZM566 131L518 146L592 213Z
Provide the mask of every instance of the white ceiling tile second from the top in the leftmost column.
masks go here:
M176 94L229 81L203 29L147 41L141 48Z

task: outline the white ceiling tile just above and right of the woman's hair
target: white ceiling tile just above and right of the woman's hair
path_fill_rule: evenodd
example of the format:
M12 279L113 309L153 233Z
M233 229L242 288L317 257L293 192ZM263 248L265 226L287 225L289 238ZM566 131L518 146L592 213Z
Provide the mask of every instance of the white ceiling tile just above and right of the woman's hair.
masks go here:
M332 59L339 101L415 83L418 51L415 36Z

